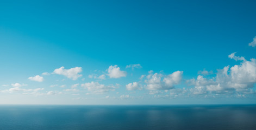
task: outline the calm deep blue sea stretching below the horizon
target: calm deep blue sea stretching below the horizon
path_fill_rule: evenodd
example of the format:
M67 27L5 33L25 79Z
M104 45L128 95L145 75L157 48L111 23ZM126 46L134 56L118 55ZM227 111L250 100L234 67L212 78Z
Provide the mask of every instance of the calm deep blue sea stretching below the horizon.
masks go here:
M0 105L0 129L256 129L256 105Z

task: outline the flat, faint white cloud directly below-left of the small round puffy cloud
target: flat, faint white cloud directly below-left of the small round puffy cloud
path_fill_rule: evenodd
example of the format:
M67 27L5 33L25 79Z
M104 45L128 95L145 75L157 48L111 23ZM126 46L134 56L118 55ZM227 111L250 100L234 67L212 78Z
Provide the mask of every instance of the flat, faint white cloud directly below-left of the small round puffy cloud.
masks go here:
M115 90L118 88L118 85L116 86L105 86L98 82L88 82L81 84L82 87L87 89L89 92L95 93L95 94L102 94L102 93L108 93L109 90Z

